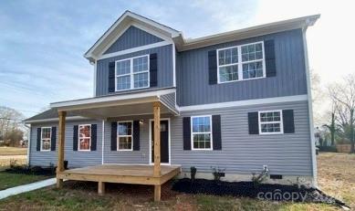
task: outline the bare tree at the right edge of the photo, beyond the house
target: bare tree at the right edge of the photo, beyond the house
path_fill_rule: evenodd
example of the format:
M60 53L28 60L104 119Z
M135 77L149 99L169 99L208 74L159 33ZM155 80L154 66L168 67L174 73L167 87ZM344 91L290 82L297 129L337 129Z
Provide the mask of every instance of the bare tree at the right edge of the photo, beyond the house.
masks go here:
M350 74L341 83L329 87L330 98L334 101L336 120L343 135L351 142L350 153L354 150L355 74Z

